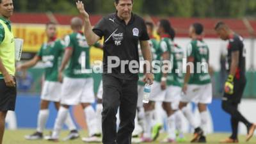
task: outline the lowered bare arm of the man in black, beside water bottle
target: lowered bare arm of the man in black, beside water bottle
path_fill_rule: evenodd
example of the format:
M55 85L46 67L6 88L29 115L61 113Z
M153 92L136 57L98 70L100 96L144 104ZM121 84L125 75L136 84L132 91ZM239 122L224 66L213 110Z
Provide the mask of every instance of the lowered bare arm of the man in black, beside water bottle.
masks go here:
M153 81L154 81L154 75L150 72L152 70L152 65L151 65L152 55L151 55L151 52L150 52L150 45L148 44L147 40L141 40L140 45L141 45L141 52L142 52L144 60L149 62L148 63L149 64L149 69L147 67L146 74L145 74L145 77L144 77L143 81L144 82L149 81L149 84L152 84Z

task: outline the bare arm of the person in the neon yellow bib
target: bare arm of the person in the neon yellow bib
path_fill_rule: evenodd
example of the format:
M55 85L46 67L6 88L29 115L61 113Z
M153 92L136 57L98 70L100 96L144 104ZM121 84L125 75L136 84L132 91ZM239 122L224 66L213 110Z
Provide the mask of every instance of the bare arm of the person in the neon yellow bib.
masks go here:
M3 65L3 62L0 58L0 72L3 74L4 82L6 83L6 86L15 87L15 81L13 79L13 76L11 76L6 68Z

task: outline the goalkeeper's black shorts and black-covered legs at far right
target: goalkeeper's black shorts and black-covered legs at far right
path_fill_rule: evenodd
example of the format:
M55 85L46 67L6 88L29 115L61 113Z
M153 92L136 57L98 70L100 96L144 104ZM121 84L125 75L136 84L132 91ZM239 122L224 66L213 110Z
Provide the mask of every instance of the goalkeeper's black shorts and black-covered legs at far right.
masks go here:
M243 122L246 127L250 127L251 123L244 118L244 116L238 111L238 104L241 102L241 98L246 85L246 79L235 79L234 81L234 93L232 95L224 94L222 100L222 108L230 116L230 123L232 127L232 135L230 138L237 139L238 123Z

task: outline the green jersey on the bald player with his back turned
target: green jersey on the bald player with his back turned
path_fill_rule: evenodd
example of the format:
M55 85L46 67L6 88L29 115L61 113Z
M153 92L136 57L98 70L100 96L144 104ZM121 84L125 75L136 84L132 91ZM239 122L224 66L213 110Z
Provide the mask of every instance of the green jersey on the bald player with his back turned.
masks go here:
M90 46L83 33L72 33L65 37L67 49L73 49L72 56L65 69L65 76L71 78L92 77L90 69Z

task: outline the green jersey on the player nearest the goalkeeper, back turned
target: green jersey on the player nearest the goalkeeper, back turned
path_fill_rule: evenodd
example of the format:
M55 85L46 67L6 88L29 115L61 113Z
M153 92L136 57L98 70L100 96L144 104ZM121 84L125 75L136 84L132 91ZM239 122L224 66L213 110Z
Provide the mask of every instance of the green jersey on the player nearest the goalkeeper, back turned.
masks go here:
M208 72L209 48L203 40L193 40L187 47L187 56L194 58L194 71L188 84L207 84L211 83Z

